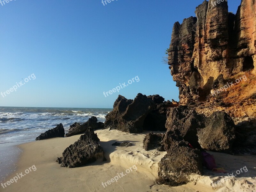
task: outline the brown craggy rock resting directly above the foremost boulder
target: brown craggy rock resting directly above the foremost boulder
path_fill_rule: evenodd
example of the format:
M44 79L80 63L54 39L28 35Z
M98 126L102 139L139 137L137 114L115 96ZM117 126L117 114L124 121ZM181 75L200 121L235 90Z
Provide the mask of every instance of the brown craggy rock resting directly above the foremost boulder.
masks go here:
M165 136L169 133L175 133L177 137L189 142L194 148L202 149L196 134L197 128L204 127L204 119L204 115L197 114L195 110L189 110L185 106L170 108L167 112L165 124L167 132Z

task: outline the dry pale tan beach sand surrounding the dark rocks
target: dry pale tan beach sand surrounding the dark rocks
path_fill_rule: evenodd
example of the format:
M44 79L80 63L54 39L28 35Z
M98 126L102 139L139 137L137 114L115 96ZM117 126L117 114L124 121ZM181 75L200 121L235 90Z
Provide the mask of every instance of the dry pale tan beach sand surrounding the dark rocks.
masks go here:
M34 191L54 191L54 192L226 192L226 191L256 191L256 158L255 156L231 156L210 152L214 155L219 167L223 167L228 173L236 172L246 166L248 171L239 174L236 178L228 179L224 184L212 187L212 182L220 180L224 173L214 173L205 170L205 176L193 175L194 182L179 187L169 187L157 185L158 161L166 152L156 150L145 151L142 149L144 134L130 134L117 130L95 131L100 138L100 145L105 151L107 162L97 161L93 164L79 168L61 168L55 161L57 157L70 144L77 141L80 135L68 138L54 138L49 140L36 141L19 145L23 150L18 162L16 173L23 173L32 165L36 166L36 171L31 171L17 183L11 183L7 188L0 186L0 191L4 192L34 192ZM114 142L130 141L134 145L128 148L114 147ZM132 171L120 178L118 182L111 183L107 187L102 186L102 182L107 182L114 178L117 173L124 172L133 165L137 171ZM13 173L4 182L16 176Z

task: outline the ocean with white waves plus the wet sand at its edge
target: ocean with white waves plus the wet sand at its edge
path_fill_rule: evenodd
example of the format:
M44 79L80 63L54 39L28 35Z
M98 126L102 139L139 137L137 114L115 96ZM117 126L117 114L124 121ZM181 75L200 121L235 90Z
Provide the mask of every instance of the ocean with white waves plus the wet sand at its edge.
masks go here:
M69 125L82 124L90 117L105 122L111 108L37 108L0 107L0 182L16 171L21 150L16 145L35 141L41 133L63 124L65 133Z

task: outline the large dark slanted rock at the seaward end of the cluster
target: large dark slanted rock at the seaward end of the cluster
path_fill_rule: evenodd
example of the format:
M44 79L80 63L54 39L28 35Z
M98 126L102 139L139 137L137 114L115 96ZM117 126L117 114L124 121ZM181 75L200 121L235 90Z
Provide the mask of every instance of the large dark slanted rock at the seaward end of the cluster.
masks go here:
M149 112L156 104L146 95L139 93L134 100L127 100L119 95L114 109L106 116L105 127L123 132L140 133Z

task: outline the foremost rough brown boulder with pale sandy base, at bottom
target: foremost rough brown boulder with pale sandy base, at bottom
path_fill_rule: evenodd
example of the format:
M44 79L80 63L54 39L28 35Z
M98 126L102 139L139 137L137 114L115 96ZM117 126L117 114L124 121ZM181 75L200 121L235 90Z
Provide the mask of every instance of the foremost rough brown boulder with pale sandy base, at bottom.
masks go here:
M170 186L188 183L191 174L203 173L201 151L189 147L186 141L175 141L158 163L158 182Z

